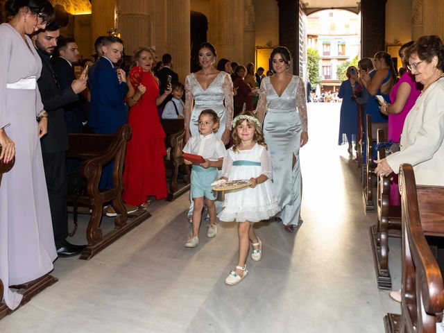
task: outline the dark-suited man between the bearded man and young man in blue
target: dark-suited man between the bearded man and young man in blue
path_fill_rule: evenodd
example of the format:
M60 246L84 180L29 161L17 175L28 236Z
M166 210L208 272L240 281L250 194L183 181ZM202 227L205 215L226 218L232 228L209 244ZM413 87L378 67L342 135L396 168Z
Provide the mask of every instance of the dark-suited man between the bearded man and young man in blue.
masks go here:
M53 57L53 64L56 79L60 89L69 87L75 80L73 64L78 62L78 47L76 41L72 38L60 38L57 42L59 56ZM68 133L82 133L83 125L87 122L87 115L82 108L82 97L79 100L65 105L65 121L67 123Z

